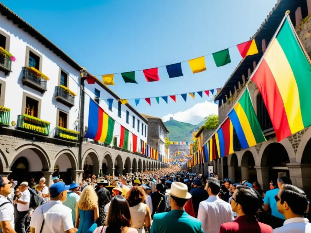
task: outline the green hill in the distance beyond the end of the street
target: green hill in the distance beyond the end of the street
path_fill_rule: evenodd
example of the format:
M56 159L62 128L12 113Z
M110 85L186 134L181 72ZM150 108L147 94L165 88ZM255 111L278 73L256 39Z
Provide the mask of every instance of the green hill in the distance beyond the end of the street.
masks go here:
M204 121L197 125L192 125L190 123L169 120L164 122L164 124L169 130L168 137L170 141L192 141L192 131L200 128Z

